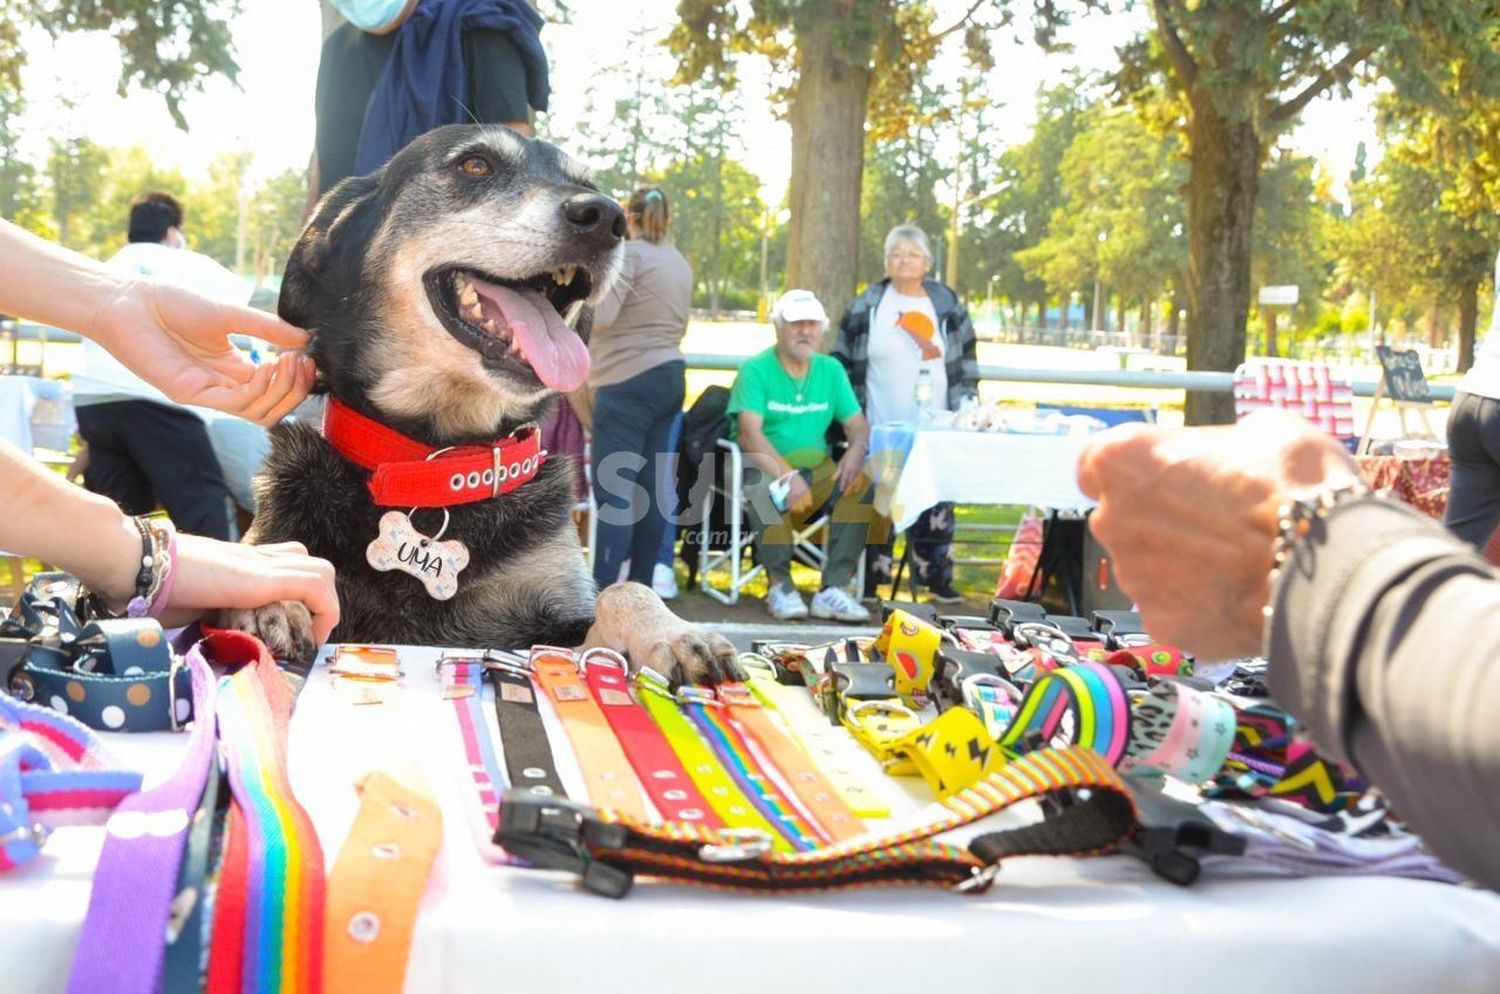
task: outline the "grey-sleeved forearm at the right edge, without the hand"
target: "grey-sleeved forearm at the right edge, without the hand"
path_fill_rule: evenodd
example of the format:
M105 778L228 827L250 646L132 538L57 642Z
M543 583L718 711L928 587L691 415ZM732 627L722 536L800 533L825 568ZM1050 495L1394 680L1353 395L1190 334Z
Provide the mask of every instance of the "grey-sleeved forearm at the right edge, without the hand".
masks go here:
M1455 870L1500 886L1500 580L1406 508L1335 508L1296 546L1270 693Z

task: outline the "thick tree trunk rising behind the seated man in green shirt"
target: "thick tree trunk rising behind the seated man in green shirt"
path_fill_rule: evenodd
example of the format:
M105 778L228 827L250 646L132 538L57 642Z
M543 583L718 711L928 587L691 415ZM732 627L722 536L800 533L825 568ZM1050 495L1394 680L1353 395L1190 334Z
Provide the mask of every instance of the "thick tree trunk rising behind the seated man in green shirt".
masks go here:
M830 15L832 12L830 10ZM831 345L838 318L854 298L860 259L860 183L864 172L864 118L870 94L870 52L840 52L831 16L798 30L801 73L788 118L792 124L788 286L818 294L828 312ZM850 31L837 31L846 39ZM870 43L873 48L873 42Z

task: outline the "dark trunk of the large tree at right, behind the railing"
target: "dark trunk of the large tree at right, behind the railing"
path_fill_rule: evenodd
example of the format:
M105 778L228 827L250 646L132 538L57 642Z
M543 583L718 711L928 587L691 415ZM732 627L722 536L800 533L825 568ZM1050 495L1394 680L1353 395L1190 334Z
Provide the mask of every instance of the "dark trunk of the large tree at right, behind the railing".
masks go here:
M1250 255L1262 145L1246 112L1227 118L1206 88L1191 96L1188 171L1188 369L1233 372L1245 360ZM1230 424L1234 397L1188 391L1188 424Z

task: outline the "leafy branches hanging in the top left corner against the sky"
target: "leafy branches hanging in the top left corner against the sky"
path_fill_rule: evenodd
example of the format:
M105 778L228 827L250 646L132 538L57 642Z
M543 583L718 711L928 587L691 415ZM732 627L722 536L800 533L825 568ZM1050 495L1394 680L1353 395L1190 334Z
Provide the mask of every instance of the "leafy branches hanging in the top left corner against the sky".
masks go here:
M120 45L120 85L160 93L182 129L182 100L214 75L238 75L228 21L240 0L15 0L0 3L0 90L20 91L28 28L52 37L108 31Z

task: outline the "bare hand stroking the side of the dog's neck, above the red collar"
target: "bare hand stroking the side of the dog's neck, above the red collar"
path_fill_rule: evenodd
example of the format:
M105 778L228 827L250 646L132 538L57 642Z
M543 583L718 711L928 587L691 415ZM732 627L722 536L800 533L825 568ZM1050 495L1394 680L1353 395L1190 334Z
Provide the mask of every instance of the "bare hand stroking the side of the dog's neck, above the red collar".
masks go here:
M156 282L129 282L100 307L93 334L132 372L178 403L216 408L260 424L286 417L312 388L314 363L296 351L254 366L230 334L284 349L308 333L250 307L222 304Z

